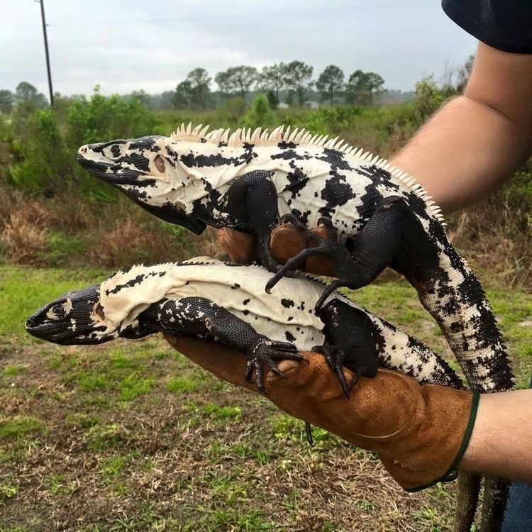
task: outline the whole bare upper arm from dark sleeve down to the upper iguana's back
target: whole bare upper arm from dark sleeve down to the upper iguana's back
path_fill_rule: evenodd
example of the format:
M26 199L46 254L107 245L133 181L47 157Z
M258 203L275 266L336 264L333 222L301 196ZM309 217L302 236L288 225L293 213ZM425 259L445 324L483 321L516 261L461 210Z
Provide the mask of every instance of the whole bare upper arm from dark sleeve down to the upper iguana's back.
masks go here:
M465 95L448 102L392 162L443 211L471 204L531 155L532 55L479 44Z

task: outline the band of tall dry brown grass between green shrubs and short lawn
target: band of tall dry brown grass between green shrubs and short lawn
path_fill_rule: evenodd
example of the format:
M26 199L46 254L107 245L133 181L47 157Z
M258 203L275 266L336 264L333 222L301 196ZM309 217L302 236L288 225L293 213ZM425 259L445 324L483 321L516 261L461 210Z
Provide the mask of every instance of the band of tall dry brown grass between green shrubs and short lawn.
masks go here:
M475 269L492 272L509 287L532 287L530 216L485 202L451 220L449 232ZM70 196L28 200L8 190L0 196L0 253L11 264L112 269L220 251L214 229L193 237L126 198L98 204Z

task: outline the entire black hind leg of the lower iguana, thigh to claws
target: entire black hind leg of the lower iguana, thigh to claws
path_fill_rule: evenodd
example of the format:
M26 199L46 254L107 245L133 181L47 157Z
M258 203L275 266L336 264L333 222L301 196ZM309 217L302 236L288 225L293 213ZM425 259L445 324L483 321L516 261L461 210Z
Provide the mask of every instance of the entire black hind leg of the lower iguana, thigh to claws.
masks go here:
M324 345L316 345L313 351L322 353L331 369L338 375L345 397L360 377L375 377L378 367L377 341L372 333L370 318L338 299L329 301L318 312L325 323ZM345 380L342 366L355 373L350 386Z

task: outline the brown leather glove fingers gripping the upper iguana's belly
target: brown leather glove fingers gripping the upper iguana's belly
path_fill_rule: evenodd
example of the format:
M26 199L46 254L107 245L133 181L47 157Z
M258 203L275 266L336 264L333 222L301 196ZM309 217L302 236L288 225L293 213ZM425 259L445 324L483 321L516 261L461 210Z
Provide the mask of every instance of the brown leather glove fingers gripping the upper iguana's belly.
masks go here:
M329 238L326 228L315 227L311 229L311 232L321 236L321 238ZM235 262L248 264L255 260L255 237L253 235L224 227L218 231L218 243L220 243L223 251L231 257L231 260ZM297 255L304 248L314 248L315 245L311 240L306 240L297 228L292 226L292 223L284 223L282 226L277 226L272 231L272 237L270 238L272 253L279 264L284 264L284 262ZM316 275L334 276L332 262L318 255L306 259L303 264L299 265L299 268Z

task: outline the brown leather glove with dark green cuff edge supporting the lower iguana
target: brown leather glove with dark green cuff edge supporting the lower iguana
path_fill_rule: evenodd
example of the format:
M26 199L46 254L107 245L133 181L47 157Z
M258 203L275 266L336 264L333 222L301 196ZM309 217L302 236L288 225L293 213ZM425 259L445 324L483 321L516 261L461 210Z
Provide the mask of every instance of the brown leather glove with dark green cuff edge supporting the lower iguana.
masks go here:
M245 381L245 357L218 343L166 336L172 347L218 377L257 392ZM345 399L334 372L316 353L308 361L279 363L286 379L270 372L267 399L288 414L378 453L384 467L409 491L453 480L477 411L478 396L465 390L421 385L380 369L362 377ZM344 369L350 382L353 373Z

